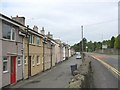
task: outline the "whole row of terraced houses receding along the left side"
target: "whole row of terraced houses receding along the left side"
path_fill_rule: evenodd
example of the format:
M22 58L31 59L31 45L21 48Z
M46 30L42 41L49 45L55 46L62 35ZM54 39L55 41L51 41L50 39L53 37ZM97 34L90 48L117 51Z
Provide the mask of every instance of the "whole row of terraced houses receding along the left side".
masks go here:
M70 45L37 26L25 25L24 17L0 14L0 88L13 85L74 55Z

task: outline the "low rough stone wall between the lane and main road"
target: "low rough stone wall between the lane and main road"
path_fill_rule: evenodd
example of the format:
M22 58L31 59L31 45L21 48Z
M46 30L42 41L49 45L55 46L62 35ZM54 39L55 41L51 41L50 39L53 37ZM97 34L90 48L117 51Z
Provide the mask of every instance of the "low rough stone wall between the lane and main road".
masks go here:
M68 88L90 88L91 83L91 60L89 56L84 57L84 62L74 71L74 77L69 82Z

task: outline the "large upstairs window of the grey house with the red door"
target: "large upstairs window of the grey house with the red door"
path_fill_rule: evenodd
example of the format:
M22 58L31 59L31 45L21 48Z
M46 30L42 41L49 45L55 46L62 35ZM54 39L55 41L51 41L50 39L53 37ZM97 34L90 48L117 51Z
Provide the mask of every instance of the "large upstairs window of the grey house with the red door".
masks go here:
M3 38L15 40L15 28L3 23Z

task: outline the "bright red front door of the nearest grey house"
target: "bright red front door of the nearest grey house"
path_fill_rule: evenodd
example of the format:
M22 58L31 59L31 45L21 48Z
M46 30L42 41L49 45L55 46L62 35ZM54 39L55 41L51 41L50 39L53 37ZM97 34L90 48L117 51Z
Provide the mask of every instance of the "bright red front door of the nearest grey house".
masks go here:
M16 83L16 56L11 57L11 75L10 75L11 84Z

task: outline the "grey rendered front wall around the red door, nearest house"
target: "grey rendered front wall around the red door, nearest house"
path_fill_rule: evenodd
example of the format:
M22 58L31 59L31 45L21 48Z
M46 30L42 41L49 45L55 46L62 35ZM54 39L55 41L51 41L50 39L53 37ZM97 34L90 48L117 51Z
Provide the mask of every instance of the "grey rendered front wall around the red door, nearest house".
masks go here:
M22 57L21 49L22 49L22 37L18 35L18 28L15 27L15 33L16 33L16 40L10 41L3 39L2 41L2 56L8 56L8 72L3 73L3 85L6 86L10 84L10 57L11 56L18 56L20 55ZM18 48L19 47L19 48ZM22 62L22 60L21 60ZM17 58L16 58L17 63ZM17 64L16 64L17 65ZM19 72L17 72L19 70ZM16 66L16 80L22 79L22 63L21 66Z

